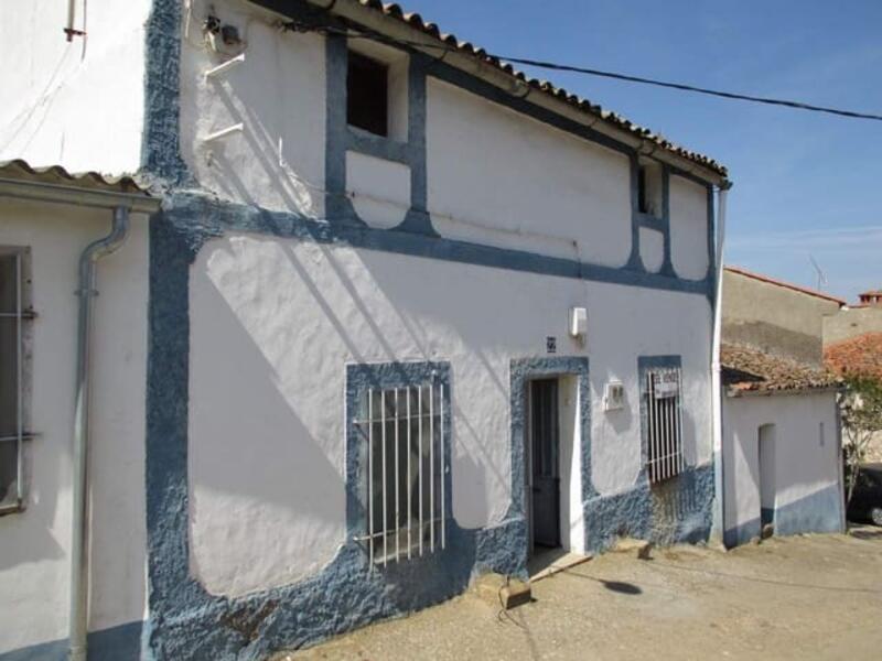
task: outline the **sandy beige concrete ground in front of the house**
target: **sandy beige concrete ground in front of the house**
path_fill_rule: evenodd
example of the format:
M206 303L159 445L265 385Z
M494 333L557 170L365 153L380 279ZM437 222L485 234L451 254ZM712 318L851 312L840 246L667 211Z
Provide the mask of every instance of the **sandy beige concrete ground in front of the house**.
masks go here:
M880 659L882 529L610 553L510 611L470 593L273 661Z

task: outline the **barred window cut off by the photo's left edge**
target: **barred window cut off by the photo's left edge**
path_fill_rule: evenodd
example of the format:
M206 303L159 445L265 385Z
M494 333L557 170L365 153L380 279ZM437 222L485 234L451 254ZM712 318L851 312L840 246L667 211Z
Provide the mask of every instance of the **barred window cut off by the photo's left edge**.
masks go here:
M0 248L0 514L24 503L26 336L30 307L28 250Z

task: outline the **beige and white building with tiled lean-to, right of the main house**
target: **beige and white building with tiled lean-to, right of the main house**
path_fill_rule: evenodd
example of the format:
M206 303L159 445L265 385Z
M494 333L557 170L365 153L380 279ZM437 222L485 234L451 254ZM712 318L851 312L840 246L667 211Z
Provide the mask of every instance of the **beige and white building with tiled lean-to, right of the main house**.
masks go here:
M723 541L845 530L839 382L821 328L843 301L727 267Z

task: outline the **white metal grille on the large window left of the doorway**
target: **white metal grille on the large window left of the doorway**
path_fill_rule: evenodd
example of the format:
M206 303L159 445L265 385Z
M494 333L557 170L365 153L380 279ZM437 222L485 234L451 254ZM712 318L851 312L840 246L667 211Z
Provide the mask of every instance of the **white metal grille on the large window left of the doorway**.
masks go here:
M368 390L355 425L367 444L367 534L358 541L370 562L444 549L444 384Z

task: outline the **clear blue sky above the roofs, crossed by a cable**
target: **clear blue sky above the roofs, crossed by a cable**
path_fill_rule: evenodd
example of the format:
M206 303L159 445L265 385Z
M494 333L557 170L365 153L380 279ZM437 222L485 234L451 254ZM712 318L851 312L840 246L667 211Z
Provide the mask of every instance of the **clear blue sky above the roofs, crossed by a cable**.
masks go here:
M882 113L882 1L406 0L488 51ZM730 170L727 261L853 300L882 286L882 122L559 72Z

